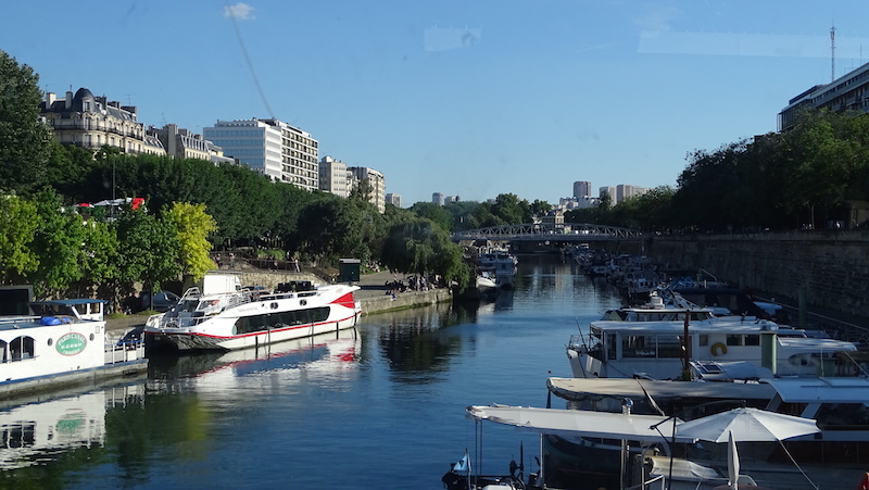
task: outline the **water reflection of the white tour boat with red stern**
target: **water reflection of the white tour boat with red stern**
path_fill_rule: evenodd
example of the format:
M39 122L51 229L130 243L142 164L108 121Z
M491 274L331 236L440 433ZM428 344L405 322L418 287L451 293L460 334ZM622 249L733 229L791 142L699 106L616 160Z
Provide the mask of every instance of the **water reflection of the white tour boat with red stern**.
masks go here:
M192 384L198 390L228 391L252 387L250 380L256 377L272 384L275 376L294 380L303 373L340 376L354 372L361 343L358 331L351 328L259 348L155 356L151 360L150 388L159 390L165 382L181 382Z

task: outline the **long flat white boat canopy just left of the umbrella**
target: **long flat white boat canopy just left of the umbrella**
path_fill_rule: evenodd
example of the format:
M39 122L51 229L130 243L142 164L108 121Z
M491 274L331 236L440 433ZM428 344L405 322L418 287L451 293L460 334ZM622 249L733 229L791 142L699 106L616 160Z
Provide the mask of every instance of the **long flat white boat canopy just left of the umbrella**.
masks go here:
M641 443L669 442L673 424L681 423L678 418L660 415L624 415L529 406L471 405L466 410L477 419L487 419L540 434L624 439ZM694 442L695 439L680 438L677 434L676 441Z

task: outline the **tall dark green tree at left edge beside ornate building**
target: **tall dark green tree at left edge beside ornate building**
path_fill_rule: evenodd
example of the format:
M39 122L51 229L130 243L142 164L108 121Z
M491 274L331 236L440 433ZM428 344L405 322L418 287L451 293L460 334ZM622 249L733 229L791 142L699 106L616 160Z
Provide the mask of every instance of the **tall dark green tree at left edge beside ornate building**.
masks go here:
M51 131L39 118L39 75L0 50L0 183L29 192L46 181Z

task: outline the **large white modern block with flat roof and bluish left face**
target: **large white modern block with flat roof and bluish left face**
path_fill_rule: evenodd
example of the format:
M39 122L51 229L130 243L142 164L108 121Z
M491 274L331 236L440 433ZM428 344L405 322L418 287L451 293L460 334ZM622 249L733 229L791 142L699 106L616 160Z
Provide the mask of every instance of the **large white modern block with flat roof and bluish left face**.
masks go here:
M310 134L281 121L217 121L202 129L205 139L224 154L267 175L273 180L302 189L319 188L319 142Z

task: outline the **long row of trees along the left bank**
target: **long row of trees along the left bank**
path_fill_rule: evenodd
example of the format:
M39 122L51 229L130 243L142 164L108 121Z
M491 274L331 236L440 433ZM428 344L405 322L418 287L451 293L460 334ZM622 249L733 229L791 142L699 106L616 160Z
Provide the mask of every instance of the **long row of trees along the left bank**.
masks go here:
M352 256L465 284L469 271L450 239L456 225L524 223L549 210L501 194L494 203L388 205L381 215L367 183L343 199L245 166L63 147L40 121L38 75L0 51L0 284L33 284L40 297L117 300L137 282L196 280L214 266L213 250L242 248L324 267ZM75 205L114 197L144 205L114 216Z

